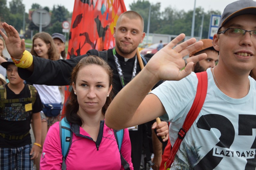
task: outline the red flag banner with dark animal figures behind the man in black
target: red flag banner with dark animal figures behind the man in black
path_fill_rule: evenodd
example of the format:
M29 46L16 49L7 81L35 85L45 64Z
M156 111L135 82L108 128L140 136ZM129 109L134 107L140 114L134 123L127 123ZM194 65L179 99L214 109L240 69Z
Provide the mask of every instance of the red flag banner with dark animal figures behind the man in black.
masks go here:
M67 59L86 54L90 49L113 48L114 26L125 11L123 0L75 0ZM64 103L69 96L67 88Z

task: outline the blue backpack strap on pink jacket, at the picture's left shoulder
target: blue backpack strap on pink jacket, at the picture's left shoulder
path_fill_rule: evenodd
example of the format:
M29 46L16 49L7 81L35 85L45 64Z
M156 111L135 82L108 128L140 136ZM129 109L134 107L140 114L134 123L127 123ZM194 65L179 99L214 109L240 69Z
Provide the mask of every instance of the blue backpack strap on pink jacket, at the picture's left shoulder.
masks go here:
M59 122L59 137L62 151L62 170L66 170L65 160L68 156L69 149L72 143L72 134L70 129L70 123L66 120L66 117Z

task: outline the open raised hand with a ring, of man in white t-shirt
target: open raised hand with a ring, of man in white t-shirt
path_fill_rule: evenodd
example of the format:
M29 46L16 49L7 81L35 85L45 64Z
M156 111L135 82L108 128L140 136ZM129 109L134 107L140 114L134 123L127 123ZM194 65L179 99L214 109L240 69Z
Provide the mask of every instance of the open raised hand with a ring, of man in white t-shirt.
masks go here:
M203 45L202 41L196 42L195 38L178 44L184 38L185 34L178 35L169 44L158 51L149 60L144 69L156 76L158 80L180 80L189 75L192 71L193 64L203 60L207 55L203 53L187 58L187 66L184 70L181 70L185 66L183 57Z

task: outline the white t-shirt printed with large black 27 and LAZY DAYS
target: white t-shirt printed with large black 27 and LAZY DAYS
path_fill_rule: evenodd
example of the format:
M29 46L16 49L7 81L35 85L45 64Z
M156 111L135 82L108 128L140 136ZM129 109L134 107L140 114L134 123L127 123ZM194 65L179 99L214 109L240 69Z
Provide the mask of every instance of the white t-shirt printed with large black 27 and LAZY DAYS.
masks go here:
M187 132L171 169L255 169L256 168L256 82L249 77L249 93L234 99L222 93L207 69L208 89L203 108ZM166 81L155 94L170 121L169 138L178 137L197 90L197 76L191 73L180 81Z

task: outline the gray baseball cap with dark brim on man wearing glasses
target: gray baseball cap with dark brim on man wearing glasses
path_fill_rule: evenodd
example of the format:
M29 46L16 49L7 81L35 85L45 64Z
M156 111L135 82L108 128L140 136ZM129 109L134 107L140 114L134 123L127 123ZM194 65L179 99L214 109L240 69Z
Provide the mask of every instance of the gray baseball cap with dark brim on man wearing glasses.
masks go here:
M222 15L218 26L218 31L223 25L225 25L230 19L243 14L256 15L256 1L253 0L239 0L228 4Z

